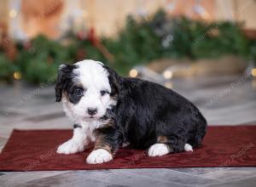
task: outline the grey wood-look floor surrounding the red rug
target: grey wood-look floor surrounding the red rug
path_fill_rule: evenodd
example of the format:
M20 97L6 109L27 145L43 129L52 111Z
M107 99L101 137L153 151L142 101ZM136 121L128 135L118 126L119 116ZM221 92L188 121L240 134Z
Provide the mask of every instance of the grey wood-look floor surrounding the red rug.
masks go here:
M173 80L172 87L211 125L256 124L256 80L250 77ZM13 128L72 127L55 103L53 86L16 83L0 90L0 150ZM0 172L0 186L256 186L256 167Z

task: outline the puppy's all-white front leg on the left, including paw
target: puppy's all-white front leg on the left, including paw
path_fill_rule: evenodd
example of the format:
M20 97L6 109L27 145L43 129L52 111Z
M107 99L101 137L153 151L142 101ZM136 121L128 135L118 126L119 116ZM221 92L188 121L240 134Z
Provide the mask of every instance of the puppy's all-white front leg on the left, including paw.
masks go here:
M67 142L61 144L58 147L57 153L59 154L73 154L82 152L85 150L85 146L88 144L86 133L82 126L75 124L73 128L73 138Z

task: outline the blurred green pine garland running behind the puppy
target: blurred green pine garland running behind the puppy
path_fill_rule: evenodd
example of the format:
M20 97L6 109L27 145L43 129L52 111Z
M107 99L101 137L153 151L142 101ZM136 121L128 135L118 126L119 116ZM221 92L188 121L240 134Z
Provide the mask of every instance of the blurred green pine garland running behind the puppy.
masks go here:
M170 19L162 10L148 20L128 16L117 38L98 39L69 32L60 41L38 36L15 45L18 54L13 61L0 50L0 80L11 81L14 72L20 71L26 82L54 82L52 77L60 64L81 59L100 60L121 75L135 65L161 58L209 59L236 54L256 61L256 41L245 37L241 25Z

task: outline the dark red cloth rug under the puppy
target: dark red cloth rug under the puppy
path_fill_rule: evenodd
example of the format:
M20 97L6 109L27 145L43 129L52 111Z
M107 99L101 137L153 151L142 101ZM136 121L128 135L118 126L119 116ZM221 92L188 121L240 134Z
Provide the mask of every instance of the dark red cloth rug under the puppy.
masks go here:
M256 166L256 126L208 127L203 145L194 152L149 157L145 150L123 149L113 161L97 165L85 163L91 149L55 153L71 136L71 130L15 130L0 154L0 171Z

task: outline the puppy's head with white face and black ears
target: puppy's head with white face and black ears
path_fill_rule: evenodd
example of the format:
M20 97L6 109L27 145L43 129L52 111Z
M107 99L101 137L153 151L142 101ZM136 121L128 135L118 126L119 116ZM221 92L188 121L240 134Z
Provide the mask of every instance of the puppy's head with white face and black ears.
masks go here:
M56 101L75 120L100 119L116 105L120 77L101 62L86 59L61 65L55 86Z

